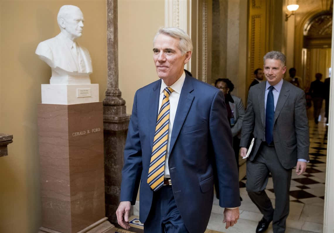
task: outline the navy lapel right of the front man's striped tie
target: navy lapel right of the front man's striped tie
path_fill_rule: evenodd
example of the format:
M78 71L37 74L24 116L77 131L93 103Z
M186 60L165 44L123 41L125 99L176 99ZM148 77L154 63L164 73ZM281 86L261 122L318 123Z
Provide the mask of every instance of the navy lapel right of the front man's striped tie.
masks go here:
M183 87L180 94L179 103L177 105L176 114L174 118L173 131L172 136L170 138L169 145L169 156L173 151L173 147L176 141L177 136L180 133L181 127L188 115L190 106L192 101L194 100L194 96L190 93L193 89L191 78L186 75L186 78L183 83Z

